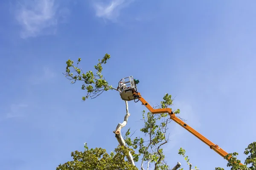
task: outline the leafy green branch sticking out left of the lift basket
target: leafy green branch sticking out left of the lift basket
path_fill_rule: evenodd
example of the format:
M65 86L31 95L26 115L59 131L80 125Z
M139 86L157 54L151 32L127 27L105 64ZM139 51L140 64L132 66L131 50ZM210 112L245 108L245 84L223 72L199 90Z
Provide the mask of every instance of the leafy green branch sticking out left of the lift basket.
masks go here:
M102 75L102 64L106 64L108 59L110 59L110 55L105 54L102 59L98 60L98 64L94 66L96 73L93 73L93 71L87 71L85 73L81 68L78 68L81 58L78 58L76 66L74 65L74 61L70 59L67 60L67 67L64 75L67 79L71 80L72 84L77 81L83 82L81 89L86 90L87 95L83 96L82 100L86 100L89 97L94 99L102 94L103 91L115 89L111 85L108 85L108 82Z

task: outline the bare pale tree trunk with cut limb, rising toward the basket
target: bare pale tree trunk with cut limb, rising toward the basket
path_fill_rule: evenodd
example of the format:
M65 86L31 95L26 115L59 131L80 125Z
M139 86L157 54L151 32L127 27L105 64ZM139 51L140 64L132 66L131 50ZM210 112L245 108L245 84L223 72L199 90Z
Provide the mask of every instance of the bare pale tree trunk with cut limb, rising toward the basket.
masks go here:
M125 146L125 147L126 147L125 140L122 138L122 135L121 135L121 129L122 129L123 127L125 127L125 125L127 124L127 121L128 121L128 117L129 117L131 114L130 114L129 111L128 111L128 102L127 102L127 101L125 101L125 105L126 105L126 115L125 115L124 122L119 123L119 124L116 126L116 130L114 130L113 133L116 134L116 139L117 139L117 141L119 142L119 144L120 144L121 146ZM131 152L129 152L129 156L128 156L127 159L128 159L128 161L129 161L131 164L135 165L135 164L134 164L133 157L132 157L132 155L131 155Z

